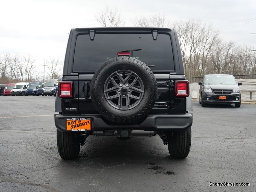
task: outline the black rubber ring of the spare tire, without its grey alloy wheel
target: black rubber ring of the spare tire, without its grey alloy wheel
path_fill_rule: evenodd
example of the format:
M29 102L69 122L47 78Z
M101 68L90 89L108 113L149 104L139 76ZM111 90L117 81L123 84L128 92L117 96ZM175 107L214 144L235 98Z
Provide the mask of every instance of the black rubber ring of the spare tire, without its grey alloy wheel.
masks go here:
M119 110L109 105L104 96L107 78L118 70L130 70L140 76L144 85L144 96L138 106L129 110ZM116 57L106 61L94 74L91 97L98 112L111 122L131 123L145 117L156 101L156 78L150 68L134 57Z

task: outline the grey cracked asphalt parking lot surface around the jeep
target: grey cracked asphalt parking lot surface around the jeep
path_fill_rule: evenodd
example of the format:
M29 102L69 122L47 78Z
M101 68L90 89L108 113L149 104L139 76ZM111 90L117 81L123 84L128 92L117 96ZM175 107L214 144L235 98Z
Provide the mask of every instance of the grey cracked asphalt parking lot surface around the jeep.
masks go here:
M55 97L0 97L0 191L256 190L256 105L202 108L194 102L186 159L170 158L158 136L90 136L79 158L65 161L56 144L54 102Z

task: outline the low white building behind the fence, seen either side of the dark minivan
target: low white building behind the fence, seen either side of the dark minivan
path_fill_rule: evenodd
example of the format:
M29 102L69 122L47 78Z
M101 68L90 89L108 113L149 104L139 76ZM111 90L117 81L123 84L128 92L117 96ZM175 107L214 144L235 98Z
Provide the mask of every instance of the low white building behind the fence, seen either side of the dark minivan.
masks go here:
M242 82L239 86L241 91L241 101L256 102L256 79L236 79L237 82ZM193 99L199 99L198 82L189 84L189 92Z

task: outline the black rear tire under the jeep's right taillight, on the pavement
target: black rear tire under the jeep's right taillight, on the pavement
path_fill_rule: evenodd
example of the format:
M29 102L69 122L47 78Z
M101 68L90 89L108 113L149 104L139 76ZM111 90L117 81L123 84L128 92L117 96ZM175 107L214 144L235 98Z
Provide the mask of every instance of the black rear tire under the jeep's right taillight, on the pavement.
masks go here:
M168 150L173 158L186 158L191 146L191 127L186 131L169 134Z

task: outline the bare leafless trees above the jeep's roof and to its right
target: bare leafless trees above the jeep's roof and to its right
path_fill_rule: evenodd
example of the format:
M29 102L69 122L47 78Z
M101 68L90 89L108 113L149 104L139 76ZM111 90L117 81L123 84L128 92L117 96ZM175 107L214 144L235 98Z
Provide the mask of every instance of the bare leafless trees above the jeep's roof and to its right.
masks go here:
M102 27L122 27L125 24L121 12L113 8L102 9L95 18ZM223 41L220 31L211 24L207 25L198 20L171 22L161 14L134 18L132 23L135 27L176 28L186 77L201 77L204 74L256 74L256 48Z

